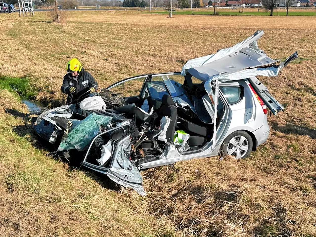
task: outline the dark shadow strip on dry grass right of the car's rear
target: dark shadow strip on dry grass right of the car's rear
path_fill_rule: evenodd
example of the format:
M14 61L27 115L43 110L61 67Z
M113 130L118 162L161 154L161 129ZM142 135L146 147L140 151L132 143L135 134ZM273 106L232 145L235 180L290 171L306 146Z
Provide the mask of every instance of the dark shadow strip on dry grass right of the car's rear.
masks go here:
M276 130L283 132L285 134L296 134L296 135L307 135L312 139L316 139L316 130L310 129L308 127L286 124L285 126L279 126L276 122L271 124L271 127Z

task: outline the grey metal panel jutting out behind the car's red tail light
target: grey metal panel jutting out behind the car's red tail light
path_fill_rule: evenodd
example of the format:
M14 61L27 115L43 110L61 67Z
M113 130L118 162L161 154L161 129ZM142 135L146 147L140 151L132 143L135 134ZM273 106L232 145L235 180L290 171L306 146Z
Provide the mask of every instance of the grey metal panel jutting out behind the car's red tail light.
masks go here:
M270 109L273 115L276 115L284 107L277 101L269 92L268 88L262 84L256 77L248 78L248 82L258 94L258 96L263 100L264 104Z

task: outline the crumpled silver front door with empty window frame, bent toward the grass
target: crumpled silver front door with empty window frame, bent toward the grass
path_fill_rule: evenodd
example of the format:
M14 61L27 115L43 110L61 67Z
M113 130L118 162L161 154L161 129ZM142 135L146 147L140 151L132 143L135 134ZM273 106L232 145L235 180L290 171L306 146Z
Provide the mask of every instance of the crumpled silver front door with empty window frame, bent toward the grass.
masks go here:
M140 195L144 196L146 192L142 186L143 177L135 164L130 160L129 156L131 152L131 138L129 134L117 141L112 141L113 149L108 167L98 166L89 163L87 160L89 151L98 137L105 135L106 133L112 133L113 131L119 130L125 126L128 126L128 124L109 129L94 137L84 159L81 162L81 165L99 173L106 174L115 183L123 185L124 187L130 187L136 190Z

